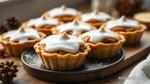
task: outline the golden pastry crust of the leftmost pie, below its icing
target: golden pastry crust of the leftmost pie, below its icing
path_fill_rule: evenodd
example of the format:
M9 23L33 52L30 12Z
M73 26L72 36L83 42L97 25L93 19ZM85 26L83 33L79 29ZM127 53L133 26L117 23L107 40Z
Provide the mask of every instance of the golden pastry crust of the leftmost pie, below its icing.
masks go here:
M39 32L40 37L44 38L46 35L44 33ZM1 35L0 43L4 46L5 52L9 56L20 57L22 52L29 47L33 47L33 45L37 42L36 40L28 40L25 43L18 42L10 42L7 39L4 39L5 34Z

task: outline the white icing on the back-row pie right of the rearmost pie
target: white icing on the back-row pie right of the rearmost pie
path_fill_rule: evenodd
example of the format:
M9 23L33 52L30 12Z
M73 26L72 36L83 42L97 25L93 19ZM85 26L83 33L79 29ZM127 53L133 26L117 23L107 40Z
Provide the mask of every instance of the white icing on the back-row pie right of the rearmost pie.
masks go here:
M92 12L92 13L85 13L81 16L81 20L86 22L89 20L98 20L98 21L107 21L111 17L104 12Z

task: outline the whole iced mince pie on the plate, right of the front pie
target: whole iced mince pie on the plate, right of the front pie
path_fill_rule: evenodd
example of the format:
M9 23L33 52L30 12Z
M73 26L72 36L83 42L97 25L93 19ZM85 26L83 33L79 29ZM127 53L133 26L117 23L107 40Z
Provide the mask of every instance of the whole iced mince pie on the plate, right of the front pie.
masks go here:
M97 59L111 58L122 47L125 38L113 31L106 30L101 26L98 30L86 32L80 36L90 48L90 57Z

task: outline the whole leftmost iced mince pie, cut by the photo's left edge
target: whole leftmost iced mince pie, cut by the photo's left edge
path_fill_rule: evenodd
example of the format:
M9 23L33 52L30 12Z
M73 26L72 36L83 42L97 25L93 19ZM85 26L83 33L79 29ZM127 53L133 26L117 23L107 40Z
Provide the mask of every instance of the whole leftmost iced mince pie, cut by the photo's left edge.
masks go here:
M9 56L21 56L22 52L32 47L46 35L32 28L19 28L4 33L1 36L0 43L4 46Z

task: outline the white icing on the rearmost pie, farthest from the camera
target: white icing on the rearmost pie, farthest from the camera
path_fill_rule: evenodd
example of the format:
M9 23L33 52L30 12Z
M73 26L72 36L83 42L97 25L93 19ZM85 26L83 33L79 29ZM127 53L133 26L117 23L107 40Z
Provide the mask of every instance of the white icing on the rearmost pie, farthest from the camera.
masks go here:
M57 7L57 8L51 9L50 11L48 11L48 14L51 17L61 16L61 15L75 16L78 14L78 11L74 8L66 8L66 7L62 6L62 7Z

